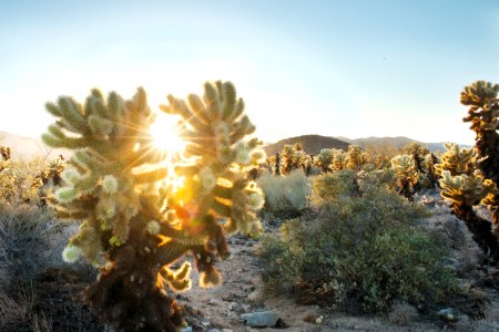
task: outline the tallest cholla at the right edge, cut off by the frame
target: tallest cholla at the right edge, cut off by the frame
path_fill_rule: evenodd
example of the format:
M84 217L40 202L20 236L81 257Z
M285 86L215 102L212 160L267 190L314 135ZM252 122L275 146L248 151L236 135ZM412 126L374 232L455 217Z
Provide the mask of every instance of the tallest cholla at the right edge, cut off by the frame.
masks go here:
M461 92L461 103L470 106L465 122L470 122L475 131L478 152L478 168L483 176L499 185L499 85L477 81ZM499 195L490 201L492 221L499 227Z

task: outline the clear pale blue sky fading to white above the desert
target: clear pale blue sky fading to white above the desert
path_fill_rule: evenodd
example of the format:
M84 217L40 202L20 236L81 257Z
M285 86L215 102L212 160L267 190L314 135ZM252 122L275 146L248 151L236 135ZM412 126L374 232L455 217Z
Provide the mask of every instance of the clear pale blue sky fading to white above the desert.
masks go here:
M60 95L231 81L264 142L472 144L464 86L499 83L499 1L0 1L0 131L39 137Z

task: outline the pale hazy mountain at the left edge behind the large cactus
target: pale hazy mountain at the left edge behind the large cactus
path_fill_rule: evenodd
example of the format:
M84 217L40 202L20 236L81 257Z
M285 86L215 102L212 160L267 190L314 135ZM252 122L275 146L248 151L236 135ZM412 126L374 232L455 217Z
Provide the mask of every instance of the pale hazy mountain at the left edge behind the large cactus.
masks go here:
M29 160L34 157L57 158L60 154L69 156L70 152L62 148L51 148L41 139L24 137L0 131L0 146L8 146L12 152L12 158Z

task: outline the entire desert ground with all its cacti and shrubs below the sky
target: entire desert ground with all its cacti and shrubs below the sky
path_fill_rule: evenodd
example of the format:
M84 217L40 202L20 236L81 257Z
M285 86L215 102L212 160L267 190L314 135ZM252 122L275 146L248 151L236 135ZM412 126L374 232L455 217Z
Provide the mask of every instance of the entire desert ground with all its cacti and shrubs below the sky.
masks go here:
M267 155L223 81L48 102L68 156L1 147L1 331L489 331L497 86L464 89L477 144L441 153ZM176 155L151 129L166 115Z

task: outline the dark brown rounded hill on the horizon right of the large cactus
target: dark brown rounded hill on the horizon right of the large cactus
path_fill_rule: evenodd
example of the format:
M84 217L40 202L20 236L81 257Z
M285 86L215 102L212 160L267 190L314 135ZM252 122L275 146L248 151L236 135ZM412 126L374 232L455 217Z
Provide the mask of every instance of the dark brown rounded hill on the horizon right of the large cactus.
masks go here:
M326 137L320 135L303 135L285 138L279 142L268 144L264 146L264 149L268 156L273 156L275 155L275 153L282 152L284 145L286 144L293 145L295 143L301 143L303 149L307 154L313 155L317 155L323 148L339 148L347 151L349 145L348 143L334 137Z

